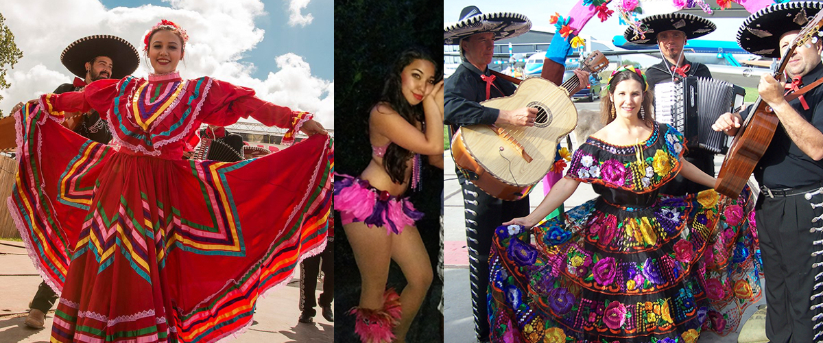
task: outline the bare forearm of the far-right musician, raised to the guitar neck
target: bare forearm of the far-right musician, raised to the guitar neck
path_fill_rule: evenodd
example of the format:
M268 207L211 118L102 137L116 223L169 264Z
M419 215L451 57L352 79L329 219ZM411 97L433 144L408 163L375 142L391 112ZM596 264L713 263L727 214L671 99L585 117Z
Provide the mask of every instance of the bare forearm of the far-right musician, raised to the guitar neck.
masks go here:
M783 98L783 85L775 80L773 76L764 74L760 78L757 91L760 93L760 97L774 110L774 114L777 115L788 137L792 139L794 144L812 160L823 159L823 132L809 123L806 118L797 113L792 105L788 104L786 99ZM815 106L814 118L821 120L823 106L811 105Z

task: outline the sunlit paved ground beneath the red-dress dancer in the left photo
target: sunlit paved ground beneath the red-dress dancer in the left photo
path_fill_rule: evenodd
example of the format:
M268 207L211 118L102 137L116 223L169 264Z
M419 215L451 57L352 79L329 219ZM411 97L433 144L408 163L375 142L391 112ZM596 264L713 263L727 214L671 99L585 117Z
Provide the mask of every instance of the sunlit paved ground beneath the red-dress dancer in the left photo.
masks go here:
M300 276L300 271L295 275ZM23 324L29 301L40 281L23 243L0 240L0 343L49 341L53 310L47 315L44 330L33 330ZM252 326L235 342L332 342L334 323L326 321L319 313L312 324L297 322L300 316L297 309L299 282L295 278L286 287L258 300ZM320 294L319 289L317 294Z

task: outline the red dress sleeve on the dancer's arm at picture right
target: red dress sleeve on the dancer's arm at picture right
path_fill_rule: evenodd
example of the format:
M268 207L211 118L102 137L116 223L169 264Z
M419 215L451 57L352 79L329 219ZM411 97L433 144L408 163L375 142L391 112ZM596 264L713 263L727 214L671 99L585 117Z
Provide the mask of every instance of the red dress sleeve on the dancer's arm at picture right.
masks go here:
M272 104L254 96L254 90L235 86L228 82L212 79L209 95L203 104L203 123L226 126L236 123L239 118L252 117L266 126L289 129L281 144L289 145L295 140L295 132L303 123L313 118L308 112L293 111L285 106Z

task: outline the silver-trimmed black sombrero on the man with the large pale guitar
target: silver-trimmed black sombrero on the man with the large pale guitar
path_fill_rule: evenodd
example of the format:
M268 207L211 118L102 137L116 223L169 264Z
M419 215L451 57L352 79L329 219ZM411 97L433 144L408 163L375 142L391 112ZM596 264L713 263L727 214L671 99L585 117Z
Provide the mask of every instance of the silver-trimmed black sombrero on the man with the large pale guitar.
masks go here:
M523 35L532 28L532 21L518 13L495 12L482 13L475 6L463 8L460 21L445 26L444 44L458 44L460 39L482 32L492 32L495 40Z

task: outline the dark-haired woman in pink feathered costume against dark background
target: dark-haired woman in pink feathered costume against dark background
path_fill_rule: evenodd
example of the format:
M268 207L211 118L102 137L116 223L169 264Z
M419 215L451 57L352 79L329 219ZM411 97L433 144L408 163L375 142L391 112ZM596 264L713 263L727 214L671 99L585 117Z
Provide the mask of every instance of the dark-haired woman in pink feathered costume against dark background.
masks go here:
M400 54L371 109L372 159L359 177L338 175L334 209L355 253L362 288L355 331L364 342L405 341L432 280L431 263L403 195L419 187L420 155L436 155L443 168L443 81L440 63L419 49ZM394 260L408 284L386 290ZM394 332L392 332L392 330Z

